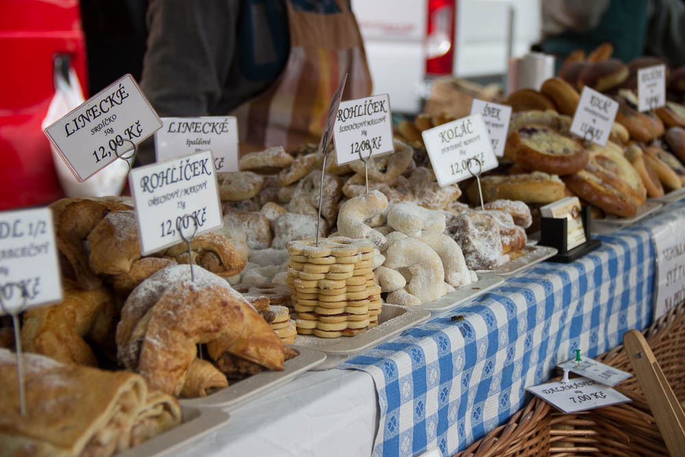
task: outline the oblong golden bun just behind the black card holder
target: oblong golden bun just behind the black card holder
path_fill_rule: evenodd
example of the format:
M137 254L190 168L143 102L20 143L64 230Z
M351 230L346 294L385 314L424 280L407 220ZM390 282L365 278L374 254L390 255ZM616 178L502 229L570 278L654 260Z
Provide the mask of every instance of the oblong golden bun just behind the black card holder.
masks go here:
M499 199L521 200L525 203L551 203L566 197L566 186L557 175L540 171L519 175L488 175L480 178L485 203ZM479 204L477 182L467 190L469 201Z

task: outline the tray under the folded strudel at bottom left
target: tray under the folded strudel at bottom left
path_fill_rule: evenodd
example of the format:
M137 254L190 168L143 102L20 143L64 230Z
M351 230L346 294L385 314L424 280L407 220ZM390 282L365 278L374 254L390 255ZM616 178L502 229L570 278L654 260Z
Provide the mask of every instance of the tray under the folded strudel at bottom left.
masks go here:
M170 455L179 448L213 432L225 425L229 415L218 408L195 408L181 406L182 423L178 427L166 430L162 434L143 441L136 447L129 449L116 457L159 457Z

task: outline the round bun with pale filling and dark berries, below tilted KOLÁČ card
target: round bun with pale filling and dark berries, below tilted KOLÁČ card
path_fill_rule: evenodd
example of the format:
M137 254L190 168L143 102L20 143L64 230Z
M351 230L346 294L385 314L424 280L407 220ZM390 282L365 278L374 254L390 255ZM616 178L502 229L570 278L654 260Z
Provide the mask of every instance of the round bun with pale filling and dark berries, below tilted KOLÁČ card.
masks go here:
M559 134L545 125L527 125L512 132L507 143L510 158L529 170L570 175L588 163L588 153L579 140Z

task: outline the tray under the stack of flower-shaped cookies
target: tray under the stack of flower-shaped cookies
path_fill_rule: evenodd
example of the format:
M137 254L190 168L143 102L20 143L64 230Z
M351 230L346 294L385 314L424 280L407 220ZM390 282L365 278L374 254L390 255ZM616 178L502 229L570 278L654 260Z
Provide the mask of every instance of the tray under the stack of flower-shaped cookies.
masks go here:
M381 313L378 315L378 325L366 330L366 332L355 336L338 336L338 338L297 335L295 346L325 352L327 355L326 363L319 365L317 369L331 368L342 361L335 356L347 358L360 354L403 332L403 330L414 327L429 317L430 311L419 309L418 306L383 304ZM332 356L334 357L332 358Z

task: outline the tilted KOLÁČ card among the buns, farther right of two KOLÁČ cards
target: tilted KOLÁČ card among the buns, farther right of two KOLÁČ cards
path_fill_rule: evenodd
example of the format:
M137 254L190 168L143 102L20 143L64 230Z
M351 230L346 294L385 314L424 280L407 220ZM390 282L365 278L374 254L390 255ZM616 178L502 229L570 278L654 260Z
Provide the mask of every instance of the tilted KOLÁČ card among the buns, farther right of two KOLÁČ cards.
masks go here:
M614 125L619 103L588 86L580 94L580 103L575 109L571 133L600 146L606 146Z

